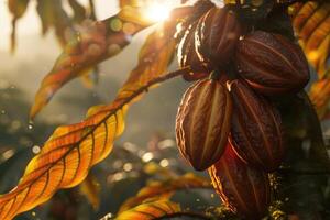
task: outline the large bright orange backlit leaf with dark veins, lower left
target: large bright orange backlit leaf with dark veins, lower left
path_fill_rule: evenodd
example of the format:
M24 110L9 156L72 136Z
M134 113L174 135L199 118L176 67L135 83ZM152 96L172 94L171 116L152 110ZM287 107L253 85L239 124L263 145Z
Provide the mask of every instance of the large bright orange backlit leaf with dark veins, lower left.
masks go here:
M89 168L112 150L123 132L125 107L99 111L81 123L59 127L28 165L18 187L0 197L0 219L12 219L47 199L58 188L79 184Z

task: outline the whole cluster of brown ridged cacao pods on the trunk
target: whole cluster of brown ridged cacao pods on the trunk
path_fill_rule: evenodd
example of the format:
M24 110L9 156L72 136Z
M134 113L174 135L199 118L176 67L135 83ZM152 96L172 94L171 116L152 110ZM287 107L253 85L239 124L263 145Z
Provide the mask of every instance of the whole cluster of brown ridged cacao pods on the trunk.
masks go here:
M270 97L306 86L304 52L279 34L245 31L234 11L215 7L187 29L178 62L191 69L184 78L197 80L176 117L182 155L195 169L209 170L232 211L262 217L271 201L268 173L284 156L282 120Z

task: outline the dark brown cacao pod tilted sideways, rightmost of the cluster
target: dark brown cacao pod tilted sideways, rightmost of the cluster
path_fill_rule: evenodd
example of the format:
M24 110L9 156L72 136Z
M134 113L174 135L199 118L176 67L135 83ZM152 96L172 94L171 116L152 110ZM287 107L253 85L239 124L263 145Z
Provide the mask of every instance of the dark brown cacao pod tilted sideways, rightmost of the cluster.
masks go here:
M256 31L237 46L240 75L263 95L280 95L302 89L309 68L302 50L279 34Z

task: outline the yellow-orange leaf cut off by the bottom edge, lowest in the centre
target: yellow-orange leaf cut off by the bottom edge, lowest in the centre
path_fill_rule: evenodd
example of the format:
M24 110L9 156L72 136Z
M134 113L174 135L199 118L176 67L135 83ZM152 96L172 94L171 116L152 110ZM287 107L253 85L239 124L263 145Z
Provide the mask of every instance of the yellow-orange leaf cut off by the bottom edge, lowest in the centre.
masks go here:
M116 220L153 220L180 211L178 204L167 199L152 200L141 204L133 209L121 212Z

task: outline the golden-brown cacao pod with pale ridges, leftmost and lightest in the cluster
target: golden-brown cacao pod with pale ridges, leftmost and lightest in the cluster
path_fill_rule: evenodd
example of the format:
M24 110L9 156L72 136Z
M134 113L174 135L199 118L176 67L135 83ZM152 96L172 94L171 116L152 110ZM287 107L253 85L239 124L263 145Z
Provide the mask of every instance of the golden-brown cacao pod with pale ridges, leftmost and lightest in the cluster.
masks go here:
M185 92L176 116L176 139L182 155L197 170L215 164L223 153L232 102L219 80L202 79Z

